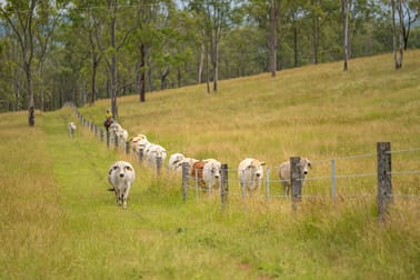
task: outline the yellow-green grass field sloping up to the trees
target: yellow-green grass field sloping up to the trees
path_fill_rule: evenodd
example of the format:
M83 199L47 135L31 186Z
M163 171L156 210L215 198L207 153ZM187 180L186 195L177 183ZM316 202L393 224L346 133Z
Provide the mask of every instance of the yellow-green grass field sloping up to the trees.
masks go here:
M311 178L376 172L376 143L390 141L396 197L379 223L376 178L307 181L290 201L189 193L179 177L157 177L92 137L70 108L0 118L0 279L418 279L420 278L420 51L396 71L390 54L303 67L219 83L119 99L118 121L132 133L197 159L237 168L253 157L276 168L309 157ZM109 100L80 108L102 122ZM352 156L368 154L350 159ZM369 156L370 154L370 156ZM350 157L350 158L349 158ZM108 192L118 159L137 180L127 210ZM234 192L234 178L230 187ZM362 194L369 196L362 196Z

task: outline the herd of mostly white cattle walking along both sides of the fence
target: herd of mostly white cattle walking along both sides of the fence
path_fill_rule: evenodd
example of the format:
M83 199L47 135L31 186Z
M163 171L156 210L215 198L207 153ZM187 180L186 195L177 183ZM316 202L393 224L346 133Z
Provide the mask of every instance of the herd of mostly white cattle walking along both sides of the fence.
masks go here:
M69 134L72 137L76 131L76 124L68 124ZM109 128L111 139L118 139L119 143L129 143L134 154L143 157L144 162L150 168L157 169L159 162L163 163L167 158L167 150L157 143L150 142L144 134L137 134L128 139L128 131L119 123L114 122ZM186 157L180 152L172 153L168 160L168 169L171 172L182 172L182 167L188 167L190 178L207 190L219 189L221 186L221 162L216 159L198 160ZM266 162L257 159L247 158L238 166L238 179L242 190L248 193L254 193L261 187L263 178L263 166ZM301 178L304 180L311 162L307 158L300 161ZM284 196L290 194L290 161L284 161L279 166L278 177L283 188ZM133 167L127 161L117 161L111 164L108 172L108 181L116 193L117 203L127 207L127 198L130 187L136 179ZM303 182L302 182L303 183Z

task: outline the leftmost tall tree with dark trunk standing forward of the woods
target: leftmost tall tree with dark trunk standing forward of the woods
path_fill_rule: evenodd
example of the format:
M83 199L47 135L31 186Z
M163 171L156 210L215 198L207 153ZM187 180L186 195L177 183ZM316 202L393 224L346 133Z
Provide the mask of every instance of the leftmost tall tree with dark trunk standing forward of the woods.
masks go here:
M33 127L34 91L33 63L37 59L42 62L47 54L49 40L53 34L56 23L60 17L60 1L52 6L50 1L13 0L0 7L0 16L8 22L18 41L21 67L26 74L26 91L28 99L28 124Z

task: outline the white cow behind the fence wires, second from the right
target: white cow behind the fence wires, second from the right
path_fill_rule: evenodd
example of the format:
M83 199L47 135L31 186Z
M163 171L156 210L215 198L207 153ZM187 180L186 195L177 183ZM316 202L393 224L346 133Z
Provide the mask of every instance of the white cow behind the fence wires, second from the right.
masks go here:
M261 180L264 176L263 166L266 166L266 162L250 158L239 163L238 178L242 190L254 192L261 187Z

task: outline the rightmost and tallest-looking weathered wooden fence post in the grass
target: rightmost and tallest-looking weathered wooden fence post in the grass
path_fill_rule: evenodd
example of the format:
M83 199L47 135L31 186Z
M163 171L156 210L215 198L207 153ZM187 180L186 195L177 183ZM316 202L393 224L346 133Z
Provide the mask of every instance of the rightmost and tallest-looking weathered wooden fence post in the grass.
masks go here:
M391 181L391 143L377 143L378 157L378 214L379 220L384 220L387 207L392 202L392 181Z

